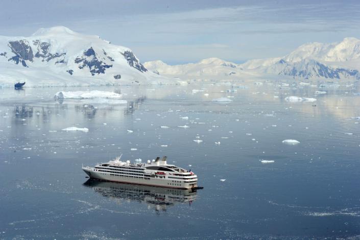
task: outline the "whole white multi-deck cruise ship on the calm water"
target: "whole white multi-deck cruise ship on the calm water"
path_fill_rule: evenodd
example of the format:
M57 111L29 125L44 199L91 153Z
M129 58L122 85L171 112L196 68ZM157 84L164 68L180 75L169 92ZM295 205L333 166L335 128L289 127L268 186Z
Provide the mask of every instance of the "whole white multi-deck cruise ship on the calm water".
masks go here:
M82 170L90 178L111 181L132 183L148 186L170 187L180 189L198 188L198 177L191 171L182 169L173 164L167 164L166 156L157 157L147 163L136 159L135 163L129 160L121 161L121 156L106 162L99 163L94 167L82 167Z

